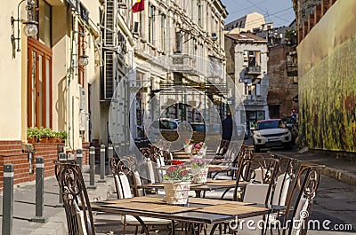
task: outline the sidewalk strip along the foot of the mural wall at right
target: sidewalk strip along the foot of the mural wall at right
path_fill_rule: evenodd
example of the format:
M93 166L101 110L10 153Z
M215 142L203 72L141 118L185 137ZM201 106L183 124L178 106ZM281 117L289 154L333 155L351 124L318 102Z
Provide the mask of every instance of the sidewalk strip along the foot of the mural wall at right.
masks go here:
M337 179L345 184L356 186L356 162L347 161L343 158L336 158L336 153L326 151L301 149L298 152L279 151L276 154L287 155L299 161L306 161L325 165L322 174Z

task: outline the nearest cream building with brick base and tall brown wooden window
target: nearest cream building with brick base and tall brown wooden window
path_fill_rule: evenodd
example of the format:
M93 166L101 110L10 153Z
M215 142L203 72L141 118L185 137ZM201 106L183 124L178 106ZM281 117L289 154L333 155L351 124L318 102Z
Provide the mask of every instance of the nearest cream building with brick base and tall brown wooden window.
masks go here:
M0 106L7 112L0 118L0 165L14 164L15 184L34 179L36 156L45 158L44 174L50 176L59 152L88 145L88 91L100 71L100 6L99 1L28 0L6 2L0 10L8 19L0 36ZM28 20L36 20L36 28L23 23ZM35 127L65 131L68 139L27 145L28 128Z

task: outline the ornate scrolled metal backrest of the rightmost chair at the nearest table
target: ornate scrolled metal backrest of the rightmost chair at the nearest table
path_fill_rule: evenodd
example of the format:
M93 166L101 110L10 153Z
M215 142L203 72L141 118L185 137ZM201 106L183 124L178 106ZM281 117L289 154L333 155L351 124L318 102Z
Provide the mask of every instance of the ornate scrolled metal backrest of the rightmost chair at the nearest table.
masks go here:
M304 235L307 233L308 222L312 214L312 202L320 184L320 170L324 167L307 163L301 164L291 196L287 200L286 211L290 211L290 213L286 213L284 216L283 235ZM287 224L289 225L287 226Z

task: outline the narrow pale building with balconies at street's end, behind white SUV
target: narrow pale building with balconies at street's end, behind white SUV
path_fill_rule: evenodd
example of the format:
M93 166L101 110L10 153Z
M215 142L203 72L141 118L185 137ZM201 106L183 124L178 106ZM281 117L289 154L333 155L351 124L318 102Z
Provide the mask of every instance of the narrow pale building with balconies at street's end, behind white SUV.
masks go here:
M268 48L262 37L249 33L225 35L226 71L237 87L236 121L251 128L255 122L270 118L267 106L269 78Z

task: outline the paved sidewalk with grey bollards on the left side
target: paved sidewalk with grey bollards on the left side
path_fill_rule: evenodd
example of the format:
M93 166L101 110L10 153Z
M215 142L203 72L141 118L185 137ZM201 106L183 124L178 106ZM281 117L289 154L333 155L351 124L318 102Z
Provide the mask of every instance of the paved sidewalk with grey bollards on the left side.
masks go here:
M96 166L96 171L100 167ZM108 170L106 171L108 174ZM85 184L89 185L89 166L83 166L83 177ZM115 184L113 177L106 177L106 183L97 183L100 175L95 175L95 190L88 189L88 196L93 200L106 200L116 198ZM14 185L13 192L13 221L12 234L66 234L67 222L64 208L56 208L59 204L59 186L55 176L47 177L44 180L44 218L47 223L30 222L31 218L35 217L36 208L36 185L35 182L30 184ZM2 229L3 216L3 196L0 197L0 231Z

